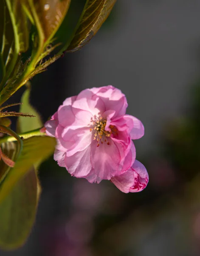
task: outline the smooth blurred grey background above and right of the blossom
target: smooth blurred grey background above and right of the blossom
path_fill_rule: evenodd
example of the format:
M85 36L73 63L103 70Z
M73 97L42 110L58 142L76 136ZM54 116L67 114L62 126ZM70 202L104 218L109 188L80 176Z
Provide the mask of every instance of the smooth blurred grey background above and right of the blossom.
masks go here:
M146 128L138 151L158 150L164 122L183 112L191 81L199 75L199 13L198 0L118 1L114 24L105 24L73 53L70 94L107 84L120 88L128 113Z

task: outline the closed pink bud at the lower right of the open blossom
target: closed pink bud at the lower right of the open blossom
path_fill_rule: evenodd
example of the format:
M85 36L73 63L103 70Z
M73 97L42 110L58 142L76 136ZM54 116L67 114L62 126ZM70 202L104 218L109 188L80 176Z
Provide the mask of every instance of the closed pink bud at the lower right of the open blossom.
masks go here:
M140 192L146 187L149 175L144 165L135 160L127 172L111 178L111 181L124 193Z

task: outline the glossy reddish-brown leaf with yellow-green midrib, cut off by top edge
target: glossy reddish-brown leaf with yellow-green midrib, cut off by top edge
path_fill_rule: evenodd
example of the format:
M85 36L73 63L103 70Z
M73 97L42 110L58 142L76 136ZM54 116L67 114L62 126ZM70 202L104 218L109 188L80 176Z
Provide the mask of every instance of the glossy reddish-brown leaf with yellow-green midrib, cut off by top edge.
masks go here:
M70 0L21 0L20 3L26 15L37 28L31 55L31 64L35 65L62 23ZM31 67L30 70L33 71L33 68Z

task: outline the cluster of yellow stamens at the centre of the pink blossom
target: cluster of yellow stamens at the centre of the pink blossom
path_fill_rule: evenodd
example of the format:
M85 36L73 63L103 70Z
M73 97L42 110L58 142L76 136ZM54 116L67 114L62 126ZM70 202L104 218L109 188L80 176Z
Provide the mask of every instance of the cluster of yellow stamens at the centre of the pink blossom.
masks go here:
M97 141L97 147L99 147L100 142L101 144L107 142L107 145L110 145L110 143L107 141L107 138L110 137L112 131L105 130L107 120L104 120L102 116L100 116L99 118L95 116L95 120L91 118L91 122L93 122L94 127L90 128L90 131L95 130L93 140Z

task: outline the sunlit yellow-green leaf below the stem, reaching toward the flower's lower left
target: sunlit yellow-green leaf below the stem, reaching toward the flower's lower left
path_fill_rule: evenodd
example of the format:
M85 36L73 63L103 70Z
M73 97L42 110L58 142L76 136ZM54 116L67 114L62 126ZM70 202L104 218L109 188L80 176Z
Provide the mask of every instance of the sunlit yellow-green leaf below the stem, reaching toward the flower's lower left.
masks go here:
M8 196L12 188L23 178L31 166L36 168L49 157L55 149L56 140L52 137L34 136L23 140L23 150L6 178L0 184L0 203Z

